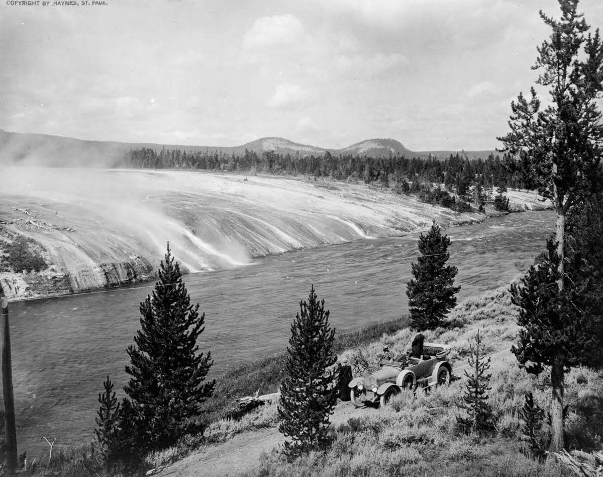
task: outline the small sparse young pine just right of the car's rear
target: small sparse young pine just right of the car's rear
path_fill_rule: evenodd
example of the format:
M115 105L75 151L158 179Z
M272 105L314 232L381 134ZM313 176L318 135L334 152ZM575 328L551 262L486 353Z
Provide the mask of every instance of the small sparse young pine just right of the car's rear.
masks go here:
M469 345L471 354L467 362L469 371L465 370L467 385L463 402L460 407L467 411L467 417L456 416L459 428L463 432L479 432L484 434L492 431L494 427L493 413L488 403L488 386L491 374L486 374L490 369L490 358L484 360L484 349L482 341L478 334L475 336L475 348Z

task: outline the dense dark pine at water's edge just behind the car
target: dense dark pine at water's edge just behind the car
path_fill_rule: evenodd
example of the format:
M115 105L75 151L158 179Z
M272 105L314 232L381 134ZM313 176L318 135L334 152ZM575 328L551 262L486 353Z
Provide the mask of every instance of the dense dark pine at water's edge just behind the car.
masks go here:
M450 243L435 220L428 234L419 237L421 256L412 264L414 280L408 282L406 290L412 328L432 330L441 325L446 313L456 306L455 295L461 287L453 284L458 270L445 266L450 257L447 251Z

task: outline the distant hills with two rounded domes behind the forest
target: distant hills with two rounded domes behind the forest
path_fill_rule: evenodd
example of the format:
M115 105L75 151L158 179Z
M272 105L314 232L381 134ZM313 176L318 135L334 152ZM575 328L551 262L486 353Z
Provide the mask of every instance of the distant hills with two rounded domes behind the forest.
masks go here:
M367 139L356 142L343 149L327 149L325 147L308 146L283 138L261 138L247 142L242 146L182 146L178 144L155 144L144 142L115 142L115 141L86 141L83 139L66 138L34 133L14 133L0 129L0 162L15 164L36 164L51 166L112 166L118 165L125 152L142 147L161 150L180 149L186 152L222 152L226 154L243 155L245 149L261 155L264 152L275 152L281 155L299 153L301 156L323 155L329 151L332 155L360 155L384 157L390 155L405 155L407 157L434 156L445 159L450 154L460 151L411 151L396 139ZM465 151L469 158L487 158L495 151Z

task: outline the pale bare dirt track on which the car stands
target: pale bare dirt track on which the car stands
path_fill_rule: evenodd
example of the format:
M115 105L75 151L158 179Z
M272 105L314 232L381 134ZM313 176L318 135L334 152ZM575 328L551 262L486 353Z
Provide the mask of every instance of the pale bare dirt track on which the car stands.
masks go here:
M510 355L509 350L497 351L490 355L497 358ZM454 368L455 376L463 377L467 364ZM364 417L379 412L374 408L356 409L350 402L339 402L331 416L331 424L338 426L347 422L350 417ZM164 469L154 473L158 477L221 477L233 476L257 464L262 451L270 452L274 447L283 444L285 438L277 427L268 427L258 431L244 432L232 439L214 446L203 447Z

